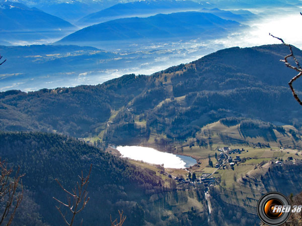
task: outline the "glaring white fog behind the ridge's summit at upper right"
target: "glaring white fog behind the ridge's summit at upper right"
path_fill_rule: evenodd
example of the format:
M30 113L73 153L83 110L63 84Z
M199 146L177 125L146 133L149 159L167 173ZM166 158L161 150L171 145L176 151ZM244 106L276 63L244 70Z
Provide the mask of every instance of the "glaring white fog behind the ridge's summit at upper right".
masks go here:
M302 8L302 7L301 7ZM252 11L252 10L250 10ZM258 12L257 12L258 11ZM259 10L253 13L262 16L261 20L249 22L251 28L246 31L233 34L226 39L215 40L215 44L221 44L224 47L251 47L265 44L280 44L280 41L269 36L269 33L280 37L284 42L302 48L302 9L295 8L290 11L283 9L272 9L259 13Z

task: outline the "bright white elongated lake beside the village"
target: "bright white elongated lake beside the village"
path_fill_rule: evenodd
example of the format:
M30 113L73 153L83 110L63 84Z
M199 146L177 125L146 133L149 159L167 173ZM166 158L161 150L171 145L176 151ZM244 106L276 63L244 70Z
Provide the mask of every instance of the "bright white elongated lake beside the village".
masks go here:
M196 160L182 155L160 152L154 148L140 146L118 146L122 158L129 158L151 164L164 164L165 168L184 169L196 164Z

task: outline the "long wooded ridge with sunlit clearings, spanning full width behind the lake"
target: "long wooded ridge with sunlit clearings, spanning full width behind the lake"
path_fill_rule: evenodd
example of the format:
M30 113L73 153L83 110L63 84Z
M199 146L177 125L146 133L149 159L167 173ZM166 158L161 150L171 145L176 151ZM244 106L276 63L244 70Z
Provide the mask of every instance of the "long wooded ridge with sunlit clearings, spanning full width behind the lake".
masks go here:
M294 51L300 59L300 51ZM294 72L279 62L286 54L282 45L230 48L151 76L2 92L0 128L98 136L116 144L148 140L150 133L185 140L229 117L299 128L300 108L287 87Z

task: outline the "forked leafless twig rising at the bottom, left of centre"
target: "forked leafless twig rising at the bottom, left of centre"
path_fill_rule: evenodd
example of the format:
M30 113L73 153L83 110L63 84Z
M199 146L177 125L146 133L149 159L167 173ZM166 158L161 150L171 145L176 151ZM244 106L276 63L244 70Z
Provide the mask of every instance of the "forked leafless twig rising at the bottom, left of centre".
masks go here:
M91 169L92 169L92 164L90 165L90 170L89 170L87 177L83 176L83 171L82 171L81 176L78 175L81 183L77 182L77 185L75 185L75 187L72 189L72 192L67 191L60 184L60 182L57 179L55 179L56 182L59 184L59 186L62 188L62 190L65 193L67 193L67 203L62 202L55 197L53 197L53 198L59 203L59 206L56 206L56 208L59 211L60 215L63 217L65 223L69 226L72 225L75 215L77 213L81 212L84 209L84 207L86 206L87 202L89 201L89 197L87 197L87 195L88 195L87 186L89 183ZM71 212L72 217L70 219L70 222L68 222L68 220L66 218L66 214L62 213L61 207L60 207L61 205L67 207L67 210L69 210Z

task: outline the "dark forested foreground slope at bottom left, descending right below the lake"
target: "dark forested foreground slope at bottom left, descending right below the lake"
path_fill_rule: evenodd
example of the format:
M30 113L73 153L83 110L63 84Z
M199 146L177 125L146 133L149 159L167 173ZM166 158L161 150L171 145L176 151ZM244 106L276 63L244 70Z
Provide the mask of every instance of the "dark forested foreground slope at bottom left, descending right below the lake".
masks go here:
M213 188L212 207L218 217L210 217L203 184L196 184L194 189L190 185L176 189L171 187L169 178L164 181L153 170L136 167L70 137L1 132L0 156L9 167L16 170L19 165L20 173L25 173L24 198L12 225L63 225L52 197L65 201L66 195L54 179L71 190L82 170L84 175L88 174L90 164L93 164L88 185L90 200L77 214L74 225L80 225L82 218L83 225L109 225L110 214L117 217L118 209L123 209L127 216L123 224L126 226L240 225L243 222L240 216L246 214L244 209L238 210L237 215L225 211L235 205L221 200ZM257 222L254 215L248 215L244 222Z

